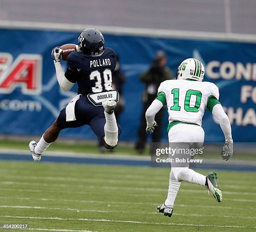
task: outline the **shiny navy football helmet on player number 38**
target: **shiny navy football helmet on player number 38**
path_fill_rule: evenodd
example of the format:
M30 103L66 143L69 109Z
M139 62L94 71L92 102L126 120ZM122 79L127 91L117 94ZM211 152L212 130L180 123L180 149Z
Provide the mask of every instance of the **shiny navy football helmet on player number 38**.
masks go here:
M78 38L80 52L87 55L100 55L104 51L105 40L97 29L84 30Z

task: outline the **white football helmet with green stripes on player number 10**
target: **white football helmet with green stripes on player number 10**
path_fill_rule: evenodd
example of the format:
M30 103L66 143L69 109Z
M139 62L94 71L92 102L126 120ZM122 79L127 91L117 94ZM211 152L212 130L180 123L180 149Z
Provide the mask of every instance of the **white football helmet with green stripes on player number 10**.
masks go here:
M202 81L205 75L205 67L203 64L194 58L189 58L180 64L177 69L176 79L192 79Z

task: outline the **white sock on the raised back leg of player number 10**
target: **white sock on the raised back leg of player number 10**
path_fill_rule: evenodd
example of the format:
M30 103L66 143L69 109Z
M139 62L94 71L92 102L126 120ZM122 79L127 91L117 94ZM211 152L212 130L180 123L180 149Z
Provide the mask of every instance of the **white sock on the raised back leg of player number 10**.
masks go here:
M178 174L179 181L199 184L205 187L205 176L189 168L182 168Z

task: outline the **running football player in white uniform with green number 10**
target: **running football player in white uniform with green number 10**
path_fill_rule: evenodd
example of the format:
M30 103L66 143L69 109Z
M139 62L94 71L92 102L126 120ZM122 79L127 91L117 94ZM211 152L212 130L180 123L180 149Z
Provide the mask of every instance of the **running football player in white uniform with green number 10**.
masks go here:
M146 131L154 132L157 126L154 117L164 105L167 105L169 146L172 146L171 143L203 144L205 133L201 125L207 108L218 119L224 133L225 145L221 156L227 161L233 155L230 121L218 101L218 87L214 83L202 82L204 74L205 68L200 61L194 58L184 60L177 70L177 80L164 81L159 86L157 98L146 111ZM215 172L204 176L189 169L189 164L185 167L174 167L171 163L171 166L168 196L163 204L156 207L157 212L172 216L174 200L182 181L206 187L215 199L221 202L222 193Z

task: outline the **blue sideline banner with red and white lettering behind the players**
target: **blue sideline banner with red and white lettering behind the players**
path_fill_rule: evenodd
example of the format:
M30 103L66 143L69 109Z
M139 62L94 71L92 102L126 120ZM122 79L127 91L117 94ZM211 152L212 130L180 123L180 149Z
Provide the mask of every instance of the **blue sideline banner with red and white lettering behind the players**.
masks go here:
M0 134L41 135L77 94L61 91L56 80L51 50L77 43L79 33L42 30L0 30ZM234 141L256 141L256 44L105 35L106 46L120 56L126 75L123 87L125 111L120 117L120 140L135 141L141 121L144 85L138 76L150 66L157 50L165 50L167 65L176 73L185 58L194 57L205 66L204 81L220 89L220 103L232 125ZM66 62L62 62L64 70ZM162 139L167 140L167 113ZM133 126L131 126L133 125ZM205 113L205 141L222 142L220 126ZM95 139L89 126L61 131L61 136Z

